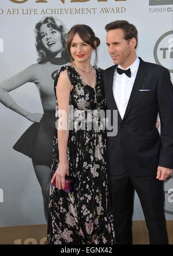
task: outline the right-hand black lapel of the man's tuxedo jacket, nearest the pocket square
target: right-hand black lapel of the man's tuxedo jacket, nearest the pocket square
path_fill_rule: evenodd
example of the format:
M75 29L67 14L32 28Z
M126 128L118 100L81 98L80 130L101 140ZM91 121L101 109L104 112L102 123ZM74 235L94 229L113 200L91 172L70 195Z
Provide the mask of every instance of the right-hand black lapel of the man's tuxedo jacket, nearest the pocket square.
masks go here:
M133 103L134 103L134 101L135 101L135 99L138 95L138 92L139 92L139 90L142 86L142 83L144 81L145 73L146 73L145 62L142 61L141 58L140 58L140 65L139 65L139 68L138 68L136 79L135 79L134 84L133 84L133 88L132 88L132 91L131 91L131 94L130 94L129 102L128 102L127 107L126 107L126 112L125 112L125 115L123 117L123 120L126 118L127 114L129 113L129 110L133 106Z

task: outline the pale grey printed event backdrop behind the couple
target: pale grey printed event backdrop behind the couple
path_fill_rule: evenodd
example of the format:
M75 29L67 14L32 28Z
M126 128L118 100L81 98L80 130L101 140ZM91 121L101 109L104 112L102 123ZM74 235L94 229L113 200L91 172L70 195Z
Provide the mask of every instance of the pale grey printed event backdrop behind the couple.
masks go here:
M138 29L137 55L165 66L172 80L172 12L173 0L1 1L0 244L7 241L15 227L20 235L14 235L12 243L46 241L33 233L37 229L46 235L55 109L53 86L55 73L69 62L64 43L66 32L74 24L92 27L101 41L97 66L106 69L114 64L108 54L104 27L114 20L127 20ZM50 58L61 48L62 55ZM93 54L92 64L94 58ZM172 221L173 176L164 182L164 191L166 219ZM137 194L133 220L145 220ZM28 233L22 236L26 226Z

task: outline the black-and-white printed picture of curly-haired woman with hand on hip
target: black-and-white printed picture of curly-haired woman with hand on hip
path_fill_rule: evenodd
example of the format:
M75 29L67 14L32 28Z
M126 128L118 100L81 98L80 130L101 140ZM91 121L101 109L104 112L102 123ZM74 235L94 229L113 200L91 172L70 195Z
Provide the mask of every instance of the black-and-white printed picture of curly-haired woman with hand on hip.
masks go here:
M69 64L70 59L66 50L67 31L62 21L52 16L42 18L35 25L35 38L37 63L0 83L0 102L33 122L14 144L13 149L32 159L42 189L47 221L55 126L54 76L62 65ZM34 83L39 91L43 114L29 112L9 95L10 91L28 82Z

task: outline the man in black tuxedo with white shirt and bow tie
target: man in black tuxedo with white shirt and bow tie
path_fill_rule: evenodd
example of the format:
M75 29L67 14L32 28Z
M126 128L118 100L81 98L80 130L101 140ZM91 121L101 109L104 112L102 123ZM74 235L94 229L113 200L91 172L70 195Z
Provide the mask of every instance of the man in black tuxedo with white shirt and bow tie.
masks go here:
M118 110L118 133L107 137L107 171L117 244L131 244L134 190L151 244L167 244L163 181L173 168L173 87L170 73L136 56L137 29L106 25L114 66L102 72L107 109ZM112 114L111 113L111 114ZM161 132L156 128L160 116Z

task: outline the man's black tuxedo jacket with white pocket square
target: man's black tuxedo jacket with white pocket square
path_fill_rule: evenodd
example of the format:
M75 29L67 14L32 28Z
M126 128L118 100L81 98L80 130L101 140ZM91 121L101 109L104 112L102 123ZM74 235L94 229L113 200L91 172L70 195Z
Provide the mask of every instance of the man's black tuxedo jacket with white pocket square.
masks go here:
M112 92L115 69L116 65L101 73L111 112L118 110ZM166 68L140 58L125 116L122 120L118 113L118 134L107 136L106 150L111 175L156 176L158 165L173 168L173 87Z

